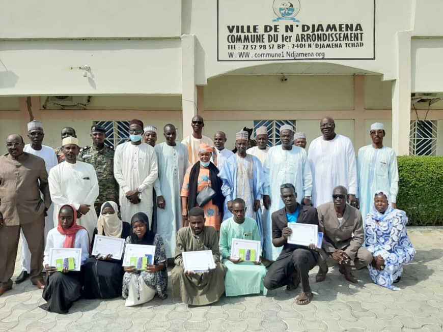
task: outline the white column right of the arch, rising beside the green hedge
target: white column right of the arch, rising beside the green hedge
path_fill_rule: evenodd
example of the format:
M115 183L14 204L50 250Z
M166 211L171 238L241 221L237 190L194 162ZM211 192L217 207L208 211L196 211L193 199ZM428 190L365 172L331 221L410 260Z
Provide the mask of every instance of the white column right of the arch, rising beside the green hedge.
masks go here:
M397 79L392 83L392 147L398 156L407 156L411 121L411 32L398 32L396 46Z

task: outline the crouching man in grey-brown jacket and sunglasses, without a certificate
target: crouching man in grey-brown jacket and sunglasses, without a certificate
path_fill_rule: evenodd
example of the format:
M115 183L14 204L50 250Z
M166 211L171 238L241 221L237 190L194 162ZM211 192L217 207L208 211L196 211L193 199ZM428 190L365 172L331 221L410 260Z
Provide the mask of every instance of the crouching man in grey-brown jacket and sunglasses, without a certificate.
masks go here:
M372 253L363 247L365 230L362 214L346 203L347 195L346 188L338 186L332 194L333 202L317 207L319 231L323 232L321 258L318 262L320 269L315 277L317 282L326 278L328 256L339 263L339 272L354 284L357 283L357 279L352 270L361 269L374 259Z

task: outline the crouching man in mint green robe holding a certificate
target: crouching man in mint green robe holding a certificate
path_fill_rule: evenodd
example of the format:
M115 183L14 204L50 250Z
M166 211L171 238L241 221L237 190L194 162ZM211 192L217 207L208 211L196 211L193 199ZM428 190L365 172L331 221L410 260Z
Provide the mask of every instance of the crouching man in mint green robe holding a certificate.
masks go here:
M241 198L232 201L232 212L233 216L221 223L218 242L223 258L221 262L228 269L225 275L226 296L259 294L261 291L266 295L267 289L263 285L266 267L261 263L261 250L250 249L242 257L240 250L246 251L247 248L239 248L236 252L232 248L232 239L235 238L260 241L257 223L254 219L245 217L247 208Z

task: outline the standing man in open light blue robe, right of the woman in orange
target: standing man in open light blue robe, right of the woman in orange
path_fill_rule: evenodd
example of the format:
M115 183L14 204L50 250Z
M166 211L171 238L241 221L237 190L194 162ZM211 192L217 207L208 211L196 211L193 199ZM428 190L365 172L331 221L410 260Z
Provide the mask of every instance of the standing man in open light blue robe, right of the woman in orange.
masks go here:
M237 153L229 157L218 176L223 180L221 192L226 197L223 220L232 217L232 201L241 198L246 204L246 217L257 221L263 239L262 210L260 199L263 196L264 173L257 157L246 154L247 132L237 133L235 146Z

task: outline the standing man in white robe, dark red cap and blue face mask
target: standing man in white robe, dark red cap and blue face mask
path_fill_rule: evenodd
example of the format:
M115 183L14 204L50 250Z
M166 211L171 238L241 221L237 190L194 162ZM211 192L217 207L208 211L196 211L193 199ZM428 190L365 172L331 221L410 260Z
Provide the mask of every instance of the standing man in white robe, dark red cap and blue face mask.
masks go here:
M114 177L120 187L122 220L130 222L134 214L145 213L152 224L152 188L158 175L154 148L142 142L143 122L129 123L129 142L120 144L114 155Z

